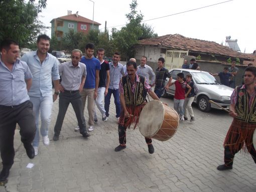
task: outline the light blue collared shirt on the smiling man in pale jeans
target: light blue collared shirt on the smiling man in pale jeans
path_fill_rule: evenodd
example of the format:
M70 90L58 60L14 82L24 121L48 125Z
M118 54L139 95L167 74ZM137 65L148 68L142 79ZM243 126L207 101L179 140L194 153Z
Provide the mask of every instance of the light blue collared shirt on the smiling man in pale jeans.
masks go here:
M60 79L57 58L47 53L41 64L37 51L33 51L22 56L21 60L28 64L33 75L29 96L40 97L42 94L44 97L52 94L52 80Z

